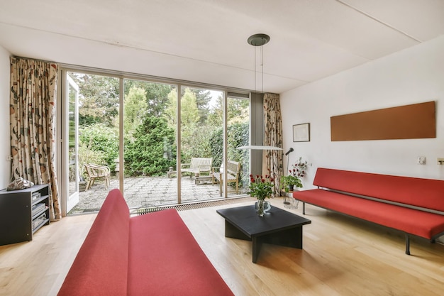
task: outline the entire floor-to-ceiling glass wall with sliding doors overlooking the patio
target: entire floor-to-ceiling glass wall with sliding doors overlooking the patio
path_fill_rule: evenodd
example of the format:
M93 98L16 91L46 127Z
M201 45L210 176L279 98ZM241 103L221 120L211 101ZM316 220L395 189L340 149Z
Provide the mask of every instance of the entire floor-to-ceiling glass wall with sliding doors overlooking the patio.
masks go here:
M237 147L248 145L248 96L75 71L65 81L66 213L99 210L114 188L131 208L247 192L248 151Z

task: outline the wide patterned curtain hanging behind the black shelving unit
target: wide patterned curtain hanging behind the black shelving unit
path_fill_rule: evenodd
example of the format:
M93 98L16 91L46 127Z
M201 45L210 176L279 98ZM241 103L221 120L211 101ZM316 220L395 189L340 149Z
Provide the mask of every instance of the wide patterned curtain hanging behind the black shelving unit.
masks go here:
M11 57L12 180L50 184L50 219L61 218L55 172L57 65Z

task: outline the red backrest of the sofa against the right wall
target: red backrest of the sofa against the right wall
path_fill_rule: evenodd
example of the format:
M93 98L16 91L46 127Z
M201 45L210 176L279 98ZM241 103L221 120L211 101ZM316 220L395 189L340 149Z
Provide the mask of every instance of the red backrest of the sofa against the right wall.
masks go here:
M318 168L313 185L444 212L444 181Z

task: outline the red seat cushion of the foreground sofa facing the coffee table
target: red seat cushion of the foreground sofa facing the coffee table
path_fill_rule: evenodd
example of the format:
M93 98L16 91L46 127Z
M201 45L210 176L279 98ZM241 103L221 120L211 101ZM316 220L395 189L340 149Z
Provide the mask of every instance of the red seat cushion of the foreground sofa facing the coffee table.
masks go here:
M175 209L130 223L128 295L233 295Z

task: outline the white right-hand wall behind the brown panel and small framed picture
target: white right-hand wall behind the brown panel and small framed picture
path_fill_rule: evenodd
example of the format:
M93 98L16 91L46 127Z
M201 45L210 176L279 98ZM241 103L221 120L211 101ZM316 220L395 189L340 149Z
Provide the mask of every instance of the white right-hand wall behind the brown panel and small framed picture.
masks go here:
M290 166L302 156L316 168L444 179L444 35L280 95L284 150ZM332 142L330 117L421 102L436 102L436 138ZM311 125L311 141L292 140L292 125ZM416 164L426 156L426 165ZM284 158L287 167L287 158Z

